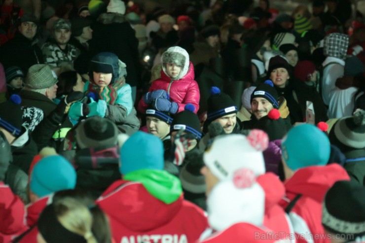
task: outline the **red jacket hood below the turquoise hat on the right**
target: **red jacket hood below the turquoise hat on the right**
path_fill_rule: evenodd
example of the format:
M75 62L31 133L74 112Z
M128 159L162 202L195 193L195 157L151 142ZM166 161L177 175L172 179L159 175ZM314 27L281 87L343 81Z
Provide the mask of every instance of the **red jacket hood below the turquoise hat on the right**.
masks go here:
M350 180L338 164L309 166L297 170L284 185L287 193L302 194L322 202L327 190L338 180Z

